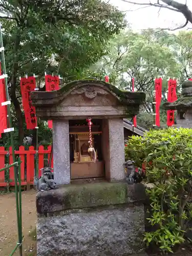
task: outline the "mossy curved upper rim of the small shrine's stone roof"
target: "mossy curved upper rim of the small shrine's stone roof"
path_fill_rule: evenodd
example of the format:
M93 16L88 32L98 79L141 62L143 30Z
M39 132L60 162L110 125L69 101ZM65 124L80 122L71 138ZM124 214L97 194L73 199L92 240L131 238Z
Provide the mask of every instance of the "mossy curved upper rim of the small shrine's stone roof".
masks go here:
M81 88L83 87L86 87L87 89L86 91L81 92ZM86 79L69 82L58 91L32 92L32 104L37 108L52 108L59 105L68 97L68 95L77 90L79 91L78 94L86 93L87 97L92 99L100 93L99 91L94 91L93 87L108 91L118 99L119 104L127 106L126 116L137 115L139 113L139 106L145 101L145 93L143 92L122 91L108 82L96 79Z

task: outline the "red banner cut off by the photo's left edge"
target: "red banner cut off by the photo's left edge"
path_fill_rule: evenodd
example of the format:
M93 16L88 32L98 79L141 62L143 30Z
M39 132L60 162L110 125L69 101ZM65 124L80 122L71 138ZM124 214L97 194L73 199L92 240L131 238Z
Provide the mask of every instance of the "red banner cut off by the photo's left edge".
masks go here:
M7 101L5 79L0 79L0 138L4 130L7 129L7 105L2 106L2 102L5 101Z

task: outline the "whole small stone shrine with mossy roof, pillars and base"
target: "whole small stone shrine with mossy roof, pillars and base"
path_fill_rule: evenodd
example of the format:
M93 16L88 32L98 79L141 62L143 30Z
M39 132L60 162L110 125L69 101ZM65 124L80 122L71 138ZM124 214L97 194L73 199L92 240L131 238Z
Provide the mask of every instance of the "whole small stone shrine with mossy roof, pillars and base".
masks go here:
M145 94L89 79L58 91L32 92L31 98L36 115L53 120L54 181L59 185L36 196L37 256L142 251L143 205L133 202L143 191L135 196L135 188L125 183L123 118L139 113ZM95 162L88 150L89 117Z

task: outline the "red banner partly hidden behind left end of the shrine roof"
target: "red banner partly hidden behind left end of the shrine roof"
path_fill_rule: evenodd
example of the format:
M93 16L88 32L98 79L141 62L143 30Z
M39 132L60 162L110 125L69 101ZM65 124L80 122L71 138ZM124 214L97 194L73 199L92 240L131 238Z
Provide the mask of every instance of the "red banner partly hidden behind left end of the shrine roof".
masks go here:
M45 82L46 82L46 91L51 92L51 91L57 91L59 90L59 78L58 76L51 76L51 75L46 75L45 76ZM48 121L48 127L50 129L53 128L53 122L52 120Z

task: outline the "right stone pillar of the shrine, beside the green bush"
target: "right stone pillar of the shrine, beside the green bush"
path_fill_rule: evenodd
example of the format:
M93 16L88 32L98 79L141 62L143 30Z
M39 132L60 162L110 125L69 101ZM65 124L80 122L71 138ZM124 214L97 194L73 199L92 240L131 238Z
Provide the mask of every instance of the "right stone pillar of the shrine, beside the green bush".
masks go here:
M110 181L125 179L123 119L109 119Z

